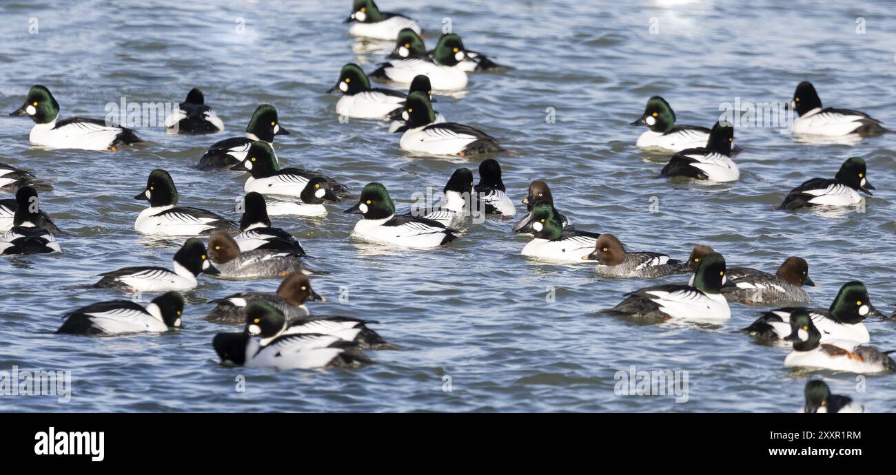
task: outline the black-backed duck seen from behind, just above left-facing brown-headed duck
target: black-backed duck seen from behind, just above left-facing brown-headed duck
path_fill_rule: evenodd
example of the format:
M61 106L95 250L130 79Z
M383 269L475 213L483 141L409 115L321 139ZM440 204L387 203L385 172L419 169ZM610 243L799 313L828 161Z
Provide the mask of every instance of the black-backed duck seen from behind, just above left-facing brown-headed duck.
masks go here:
M319 178L314 178L317 179ZM233 236L239 250L280 250L305 256L302 245L291 233L279 227L271 227L267 202L260 193L255 191L246 193L243 203L243 217L239 220L239 229L242 232Z

